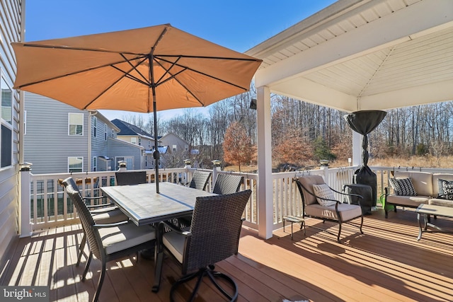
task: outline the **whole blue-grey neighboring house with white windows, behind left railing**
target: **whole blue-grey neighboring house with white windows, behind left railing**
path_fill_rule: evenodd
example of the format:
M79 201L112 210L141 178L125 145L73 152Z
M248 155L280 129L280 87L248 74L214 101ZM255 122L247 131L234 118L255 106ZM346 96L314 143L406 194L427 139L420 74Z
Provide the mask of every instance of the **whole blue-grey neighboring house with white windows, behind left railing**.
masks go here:
M143 148L117 139L120 129L96 110L25 92L23 124L33 174L117 170L123 160L130 169L143 168Z

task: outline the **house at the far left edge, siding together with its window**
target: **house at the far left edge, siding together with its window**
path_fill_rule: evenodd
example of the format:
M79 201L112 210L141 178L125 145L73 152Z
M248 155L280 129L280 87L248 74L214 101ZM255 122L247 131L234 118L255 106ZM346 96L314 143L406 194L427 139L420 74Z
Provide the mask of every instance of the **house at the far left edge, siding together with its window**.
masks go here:
M18 214L21 214L22 93L13 89L16 60L11 42L24 40L25 3L2 0L0 5L0 255L18 238ZM1 263L0 263L1 265ZM2 266L3 267L3 266Z

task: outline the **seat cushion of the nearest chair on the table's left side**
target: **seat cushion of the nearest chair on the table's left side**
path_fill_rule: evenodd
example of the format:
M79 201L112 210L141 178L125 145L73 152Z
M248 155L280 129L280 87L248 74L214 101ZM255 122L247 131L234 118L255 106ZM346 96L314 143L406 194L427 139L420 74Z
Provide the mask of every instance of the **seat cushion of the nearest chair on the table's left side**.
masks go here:
M156 238L152 226L136 226L132 221L122 226L98 228L105 252L110 255Z

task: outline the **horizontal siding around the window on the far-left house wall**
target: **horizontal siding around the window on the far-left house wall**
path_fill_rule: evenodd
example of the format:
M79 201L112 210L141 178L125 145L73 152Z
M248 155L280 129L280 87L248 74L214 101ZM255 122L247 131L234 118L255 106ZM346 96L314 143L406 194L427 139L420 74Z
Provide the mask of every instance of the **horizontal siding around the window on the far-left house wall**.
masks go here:
M24 16L23 1L0 1L0 73L8 86L13 88L16 79L16 61L11 42L21 42L23 37L22 19ZM19 163L19 127L20 95L13 91L13 120L12 120L12 161L11 166L0 168L0 264L4 262L8 246L18 237L18 212L20 207Z

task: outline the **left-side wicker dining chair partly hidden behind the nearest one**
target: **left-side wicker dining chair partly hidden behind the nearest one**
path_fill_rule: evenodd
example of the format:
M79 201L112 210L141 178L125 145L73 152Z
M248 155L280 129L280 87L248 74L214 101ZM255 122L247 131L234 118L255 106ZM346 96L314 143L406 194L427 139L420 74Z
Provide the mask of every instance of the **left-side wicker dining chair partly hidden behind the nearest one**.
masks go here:
M67 187L67 185L71 185L71 187L79 192L81 196L81 192L79 191L79 187L77 187L76 182L74 181L73 178L67 178L62 181L62 184L64 187ZM86 204L86 207L90 211L91 216L93 216L93 220L96 221L98 224L104 224L104 223L115 223L119 221L125 221L128 220L129 218L122 213L120 209L115 207L113 204L108 203L108 204L88 204L90 200L93 199L103 199L104 197L82 197L84 200L84 203ZM82 226L83 228L83 226ZM77 262L76 262L76 267L80 265L81 262L81 257L82 254L84 253L84 248L86 244L86 232L84 231L84 236L82 237L79 245L79 256L77 256Z

